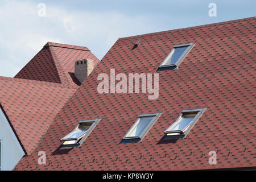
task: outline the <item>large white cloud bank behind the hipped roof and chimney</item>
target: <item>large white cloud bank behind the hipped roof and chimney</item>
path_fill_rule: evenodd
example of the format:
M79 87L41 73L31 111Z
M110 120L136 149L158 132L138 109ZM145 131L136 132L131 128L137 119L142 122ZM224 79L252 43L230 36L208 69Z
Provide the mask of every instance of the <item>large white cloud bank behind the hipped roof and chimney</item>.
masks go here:
M38 16L38 3L0 3L0 75L15 76L47 42L88 47L101 59L123 36L152 29L151 19L117 11L71 11L46 3L46 16Z

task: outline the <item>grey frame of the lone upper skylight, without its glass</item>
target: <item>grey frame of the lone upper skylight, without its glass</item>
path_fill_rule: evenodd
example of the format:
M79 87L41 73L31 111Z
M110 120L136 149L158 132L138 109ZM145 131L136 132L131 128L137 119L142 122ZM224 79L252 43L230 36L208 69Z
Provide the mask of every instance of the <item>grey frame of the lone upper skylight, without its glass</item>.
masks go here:
M187 47L188 46L188 47ZM191 49L193 48L193 46L195 46L195 43L187 43L187 44L179 44L179 45L175 45L170 53L168 53L168 55L166 56L166 58L164 58L164 60L162 61L162 63L159 65L159 68L166 68L166 67L175 67L178 68L180 63L185 59L185 57L188 55L188 53L191 51ZM182 55L179 57L179 59L177 59L175 64L164 64L167 61L167 57L171 54L171 52L175 49L175 48L179 48L179 47L187 47L187 49L185 49L185 51L182 53Z

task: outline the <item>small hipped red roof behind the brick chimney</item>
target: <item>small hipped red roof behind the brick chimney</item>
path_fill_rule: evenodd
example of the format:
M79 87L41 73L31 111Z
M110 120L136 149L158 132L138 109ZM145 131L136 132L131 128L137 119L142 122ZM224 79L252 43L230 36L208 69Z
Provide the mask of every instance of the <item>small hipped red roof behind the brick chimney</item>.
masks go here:
M94 60L94 67L100 62L86 47L48 42L15 78L76 85L74 62L80 59Z

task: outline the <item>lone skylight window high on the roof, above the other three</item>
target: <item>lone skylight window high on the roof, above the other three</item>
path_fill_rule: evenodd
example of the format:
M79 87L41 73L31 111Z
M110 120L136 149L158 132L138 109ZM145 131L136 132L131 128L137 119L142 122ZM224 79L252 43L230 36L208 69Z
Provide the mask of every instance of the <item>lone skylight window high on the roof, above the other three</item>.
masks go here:
M178 67L181 61L187 56L188 52L192 49L195 44L180 44L174 46L168 56L163 60L159 68L163 67Z

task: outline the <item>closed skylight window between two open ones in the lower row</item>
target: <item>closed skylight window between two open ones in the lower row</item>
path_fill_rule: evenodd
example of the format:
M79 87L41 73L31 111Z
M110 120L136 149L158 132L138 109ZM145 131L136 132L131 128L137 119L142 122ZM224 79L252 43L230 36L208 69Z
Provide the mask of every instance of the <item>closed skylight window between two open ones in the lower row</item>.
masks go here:
M123 140L142 140L162 113L141 114Z

